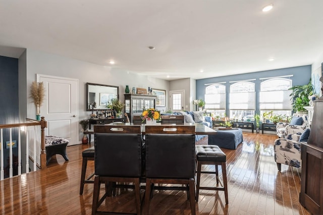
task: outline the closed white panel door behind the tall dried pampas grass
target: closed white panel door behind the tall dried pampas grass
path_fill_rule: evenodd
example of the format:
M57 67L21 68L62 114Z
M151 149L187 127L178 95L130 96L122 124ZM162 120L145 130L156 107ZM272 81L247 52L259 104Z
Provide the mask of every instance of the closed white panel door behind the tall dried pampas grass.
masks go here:
M38 75L44 83L45 102L40 114L47 121L46 135L68 139L68 145L78 144L78 79Z

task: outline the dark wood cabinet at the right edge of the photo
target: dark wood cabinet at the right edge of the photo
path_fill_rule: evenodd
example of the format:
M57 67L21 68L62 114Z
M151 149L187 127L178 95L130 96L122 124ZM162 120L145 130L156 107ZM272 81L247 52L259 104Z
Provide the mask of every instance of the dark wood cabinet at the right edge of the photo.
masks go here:
M323 97L315 101L311 131L302 143L300 203L313 214L323 214Z

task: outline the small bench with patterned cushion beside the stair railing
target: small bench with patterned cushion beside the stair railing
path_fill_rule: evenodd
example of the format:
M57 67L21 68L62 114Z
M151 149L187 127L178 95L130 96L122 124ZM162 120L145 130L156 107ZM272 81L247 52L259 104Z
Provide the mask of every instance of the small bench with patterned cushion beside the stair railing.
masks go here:
M52 155L61 154L66 161L69 160L66 154L66 146L70 141L68 139L58 136L45 136L45 148L46 148L46 165Z

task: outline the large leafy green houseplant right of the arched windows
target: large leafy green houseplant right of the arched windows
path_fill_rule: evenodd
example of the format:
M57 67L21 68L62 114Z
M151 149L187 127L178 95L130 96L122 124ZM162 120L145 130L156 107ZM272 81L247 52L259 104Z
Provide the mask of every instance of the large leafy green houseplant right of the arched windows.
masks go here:
M296 85L289 88L289 90L293 90L293 92L290 94L293 105L293 111L306 111L306 109L304 109L304 106L309 106L308 96L313 95L315 93L314 87L311 83L311 79L309 80L308 84Z

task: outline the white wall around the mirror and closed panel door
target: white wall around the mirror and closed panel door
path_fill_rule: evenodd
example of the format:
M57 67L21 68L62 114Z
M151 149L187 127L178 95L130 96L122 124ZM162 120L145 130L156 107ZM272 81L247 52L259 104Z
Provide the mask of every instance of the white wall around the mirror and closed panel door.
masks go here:
M24 96L26 92L30 91L30 85L36 80L36 74L75 78L79 80L79 120L89 118L91 113L86 111L86 82L119 86L119 98L123 102L126 85L129 85L130 89L132 87L148 89L149 86L169 91L169 81L167 80L138 75L120 69L112 69L108 66L100 66L38 50L27 49L26 57L19 59L19 61L23 63L24 58L26 58L25 83L27 84L22 88L22 91L25 91ZM35 119L35 106L31 102L28 93L26 97L27 101L25 105L23 103L21 104L21 109L26 109L27 112L21 112L20 114L23 119L26 117ZM168 104L168 99L166 103ZM82 137L81 131L81 127L79 127L79 140Z

